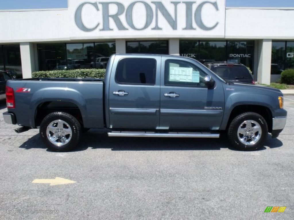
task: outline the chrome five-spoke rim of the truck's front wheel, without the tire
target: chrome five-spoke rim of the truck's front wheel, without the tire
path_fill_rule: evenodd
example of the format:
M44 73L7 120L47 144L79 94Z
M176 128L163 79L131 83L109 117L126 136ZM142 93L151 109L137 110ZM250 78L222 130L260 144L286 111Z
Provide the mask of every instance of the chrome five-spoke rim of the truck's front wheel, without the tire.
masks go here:
M238 128L238 139L245 145L253 145L257 143L261 137L260 124L253 120L247 120L241 123Z

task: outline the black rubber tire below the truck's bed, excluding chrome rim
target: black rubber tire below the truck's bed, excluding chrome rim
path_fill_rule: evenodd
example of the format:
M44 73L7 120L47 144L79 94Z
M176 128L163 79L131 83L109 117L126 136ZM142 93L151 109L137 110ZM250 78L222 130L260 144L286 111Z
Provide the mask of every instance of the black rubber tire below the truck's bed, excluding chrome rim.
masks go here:
M71 131L72 131L71 140L69 141L69 143L66 143L63 146L57 146L51 143L46 135L47 126L55 120L63 120L66 123L68 123L68 125L71 127ZM78 145L78 142L81 139L81 124L78 122L78 120L74 116L66 112L53 112L47 115L42 120L40 125L40 135L41 135L42 141L50 150L59 151L59 152L70 151Z

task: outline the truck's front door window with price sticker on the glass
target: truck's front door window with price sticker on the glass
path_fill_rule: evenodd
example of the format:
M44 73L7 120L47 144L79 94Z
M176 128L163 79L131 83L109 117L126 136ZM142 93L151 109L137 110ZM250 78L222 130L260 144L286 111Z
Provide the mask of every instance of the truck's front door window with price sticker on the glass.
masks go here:
M192 63L181 60L166 60L165 85L206 87L206 76L206 73Z

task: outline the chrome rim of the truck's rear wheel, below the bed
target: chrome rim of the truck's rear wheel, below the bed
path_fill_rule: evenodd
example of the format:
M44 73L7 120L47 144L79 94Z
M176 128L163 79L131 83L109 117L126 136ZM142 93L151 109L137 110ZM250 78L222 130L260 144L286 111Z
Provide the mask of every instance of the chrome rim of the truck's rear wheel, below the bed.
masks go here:
M49 123L46 129L48 140L56 146L63 146L71 140L72 131L68 123L55 120Z

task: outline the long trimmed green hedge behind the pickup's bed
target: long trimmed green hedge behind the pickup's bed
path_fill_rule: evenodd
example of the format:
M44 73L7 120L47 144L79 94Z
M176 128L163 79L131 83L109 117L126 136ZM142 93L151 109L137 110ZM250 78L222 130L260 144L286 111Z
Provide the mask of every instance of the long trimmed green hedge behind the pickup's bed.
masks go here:
M104 78L105 69L52 70L33 72L33 78Z

